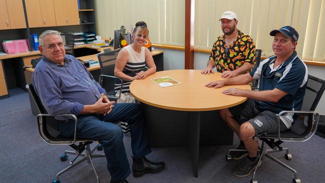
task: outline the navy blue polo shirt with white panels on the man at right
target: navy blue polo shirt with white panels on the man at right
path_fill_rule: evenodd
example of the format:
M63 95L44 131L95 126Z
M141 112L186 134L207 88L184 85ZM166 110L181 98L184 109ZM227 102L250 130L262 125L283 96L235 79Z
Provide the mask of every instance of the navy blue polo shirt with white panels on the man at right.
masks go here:
M256 108L276 114L282 110L300 110L308 79L307 66L298 58L296 51L282 64L273 68L275 58L276 55L264 59L249 74L254 79L259 79L260 91L277 88L288 94L277 102L256 100ZM287 116L287 120L291 123L292 116Z

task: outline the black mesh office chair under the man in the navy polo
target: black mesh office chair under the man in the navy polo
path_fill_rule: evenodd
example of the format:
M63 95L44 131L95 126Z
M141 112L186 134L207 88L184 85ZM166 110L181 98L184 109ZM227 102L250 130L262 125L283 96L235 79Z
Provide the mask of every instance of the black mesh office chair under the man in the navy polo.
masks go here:
M303 103L300 111L281 111L278 114L277 121L278 121L278 132L277 133L262 133L257 134L254 136L254 139L262 140L260 150L258 153L260 157L258 159L258 163L260 163L261 159L266 156L271 160L277 162L278 164L282 165L283 167L289 169L294 173L294 178L292 182L301 182L299 178L297 178L297 171L285 164L284 162L280 161L279 159L272 156L270 153L278 152L285 150L285 159L290 160L292 158L291 153L289 153L288 148L283 148L279 146L282 142L304 142L308 140L317 129L319 114L315 112L315 108L320 100L321 95L323 94L325 89L325 80L319 79L312 75L308 75L308 83L305 91L305 95L303 98ZM292 126L287 129L286 131L280 132L280 116L285 115L286 113L294 113L299 114ZM264 142L271 147L272 149L264 149ZM239 150L239 149L229 149L226 155L226 160L231 160L230 151L246 151L246 150ZM257 183L255 179L255 172L258 166L255 167L255 170L252 174L251 182Z

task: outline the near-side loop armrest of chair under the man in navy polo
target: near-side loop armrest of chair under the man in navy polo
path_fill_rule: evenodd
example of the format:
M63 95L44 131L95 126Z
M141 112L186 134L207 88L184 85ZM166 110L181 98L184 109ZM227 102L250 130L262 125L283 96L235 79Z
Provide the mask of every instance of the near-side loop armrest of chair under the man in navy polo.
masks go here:
M299 138L288 138L288 137L281 137L280 132L280 116L286 114L286 113L298 113L298 114L308 114L308 126L306 130L304 131L305 135L299 137ZM277 115L277 132L278 132L278 139L281 141L306 141L308 140L317 129L319 120L319 113L315 111L304 111L304 110L283 110Z

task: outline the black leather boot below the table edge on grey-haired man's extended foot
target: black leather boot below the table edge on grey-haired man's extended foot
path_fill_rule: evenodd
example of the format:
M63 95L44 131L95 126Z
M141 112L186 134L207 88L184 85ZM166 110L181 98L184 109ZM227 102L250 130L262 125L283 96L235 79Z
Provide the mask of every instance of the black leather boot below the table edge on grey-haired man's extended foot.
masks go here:
M144 173L155 173L165 167L164 162L151 162L144 156L141 158L134 158L132 164L133 176L142 176Z

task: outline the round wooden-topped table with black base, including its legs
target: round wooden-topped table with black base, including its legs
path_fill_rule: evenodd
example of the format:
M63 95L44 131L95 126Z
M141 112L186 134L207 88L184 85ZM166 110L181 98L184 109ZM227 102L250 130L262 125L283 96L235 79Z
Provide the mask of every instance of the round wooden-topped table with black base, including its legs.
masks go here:
M150 80L163 76L170 76L181 84L160 87ZM220 78L218 72L204 75L200 70L164 70L142 80L133 80L130 84L131 94L142 102L151 146L187 146L195 177L198 172L198 150L202 142L200 138L209 141L202 142L205 145L214 144L213 141L218 138L228 142L230 140L227 138L230 138L232 144L233 132L223 120L218 120L216 110L237 105L247 99L221 93L233 85L221 88L204 86ZM235 87L250 89L248 84ZM214 116L206 118L206 115ZM214 128L213 125L219 126Z

